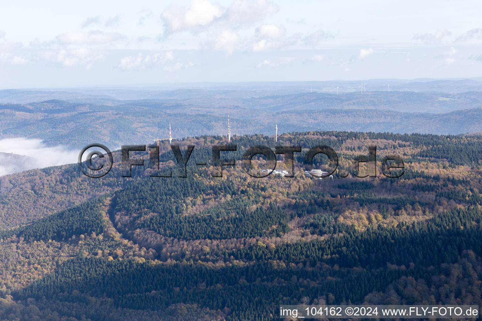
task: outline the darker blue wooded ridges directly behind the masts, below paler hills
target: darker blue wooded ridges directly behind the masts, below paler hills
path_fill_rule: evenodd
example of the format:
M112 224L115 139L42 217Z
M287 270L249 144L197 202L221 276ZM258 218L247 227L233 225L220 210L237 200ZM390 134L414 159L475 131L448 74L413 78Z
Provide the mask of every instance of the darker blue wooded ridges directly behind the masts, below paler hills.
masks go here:
M368 96L368 95L367 95ZM273 101L277 98L273 98ZM335 99L335 98L334 98ZM351 101L343 109L286 109L280 111L239 106L207 106L177 103L137 103L107 106L99 104L46 101L42 103L0 104L0 139L40 138L46 144L81 148L100 142L120 147L146 143L168 135L169 122L174 138L205 134L225 135L227 113L233 134L274 134L300 130L357 130L396 133L465 134L482 131L482 109L457 110L443 114L407 113L390 110L357 109ZM359 102L360 103L360 102ZM348 108L351 107L351 108Z

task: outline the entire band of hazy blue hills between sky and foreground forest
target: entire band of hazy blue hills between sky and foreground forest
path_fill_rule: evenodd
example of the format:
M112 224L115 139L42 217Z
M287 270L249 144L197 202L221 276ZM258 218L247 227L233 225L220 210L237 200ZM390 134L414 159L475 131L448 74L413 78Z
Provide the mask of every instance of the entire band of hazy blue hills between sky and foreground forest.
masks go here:
M394 90L384 90L388 82ZM330 87L334 84L339 94ZM474 79L373 79L363 93L353 81L0 90L0 102L8 102L0 103L0 139L38 138L75 149L100 142L118 148L166 137L169 122L176 139L225 135L228 113L235 135L273 135L275 122L279 132L465 134L482 131L482 92L458 91L480 84ZM307 91L309 85L313 92Z

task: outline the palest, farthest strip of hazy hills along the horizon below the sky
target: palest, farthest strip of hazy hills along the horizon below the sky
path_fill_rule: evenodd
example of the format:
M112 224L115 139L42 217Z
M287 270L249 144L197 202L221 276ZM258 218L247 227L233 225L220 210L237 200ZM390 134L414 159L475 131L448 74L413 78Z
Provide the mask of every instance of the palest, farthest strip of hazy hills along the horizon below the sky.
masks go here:
M100 103L116 104L124 100L156 100L156 101L191 101L200 105L221 103L250 105L263 104L273 97L279 97L283 103L305 103L311 107L321 108L325 104L336 107L336 100L332 103L311 103L310 99L328 99L330 94L342 103L347 100L358 100L363 93L371 99L379 101L366 101L360 105L375 103L374 108L424 108L428 112L448 111L444 108L457 109L457 104L467 104L464 100L469 92L482 91L480 79L368 79L367 81L298 81L298 82L239 82L239 83L193 83L193 84L164 84L150 87L125 87L125 88L69 88L69 89L43 89L43 90L0 90L0 103L31 103L45 100L64 100L72 103ZM390 90L388 91L388 85ZM337 88L338 93L337 94ZM407 92L408 93L405 93ZM401 92L403 92L401 94ZM311 94L311 95L307 95ZM327 96L323 96L326 94ZM450 96L462 94L458 96ZM307 95L307 96L303 96ZM447 97L447 95L449 95ZM470 98L474 93L469 94ZM295 97L295 100L294 100ZM332 97L333 98L333 97ZM362 96L363 98L363 96ZM368 97L365 97L368 98ZM442 98L443 103L438 103ZM443 98L449 100L443 101ZM251 100L253 101L245 101ZM257 101L256 99L261 99ZM300 99L300 101L296 101ZM398 102L401 100L401 102ZM456 101L450 101L456 100ZM427 106L421 103L426 103ZM292 105L291 107L295 107ZM342 106L341 106L342 107ZM425 110L425 107L428 109ZM465 106L469 108L470 106ZM460 109L460 108L458 108Z

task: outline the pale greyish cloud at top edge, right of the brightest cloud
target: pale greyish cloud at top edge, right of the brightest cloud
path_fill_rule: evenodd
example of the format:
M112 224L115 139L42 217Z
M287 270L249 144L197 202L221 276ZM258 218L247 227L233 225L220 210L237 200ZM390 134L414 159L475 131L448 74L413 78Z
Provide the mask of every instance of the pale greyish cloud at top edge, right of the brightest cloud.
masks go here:
M236 0L226 10L223 19L231 26L249 25L278 11L278 6L269 0Z

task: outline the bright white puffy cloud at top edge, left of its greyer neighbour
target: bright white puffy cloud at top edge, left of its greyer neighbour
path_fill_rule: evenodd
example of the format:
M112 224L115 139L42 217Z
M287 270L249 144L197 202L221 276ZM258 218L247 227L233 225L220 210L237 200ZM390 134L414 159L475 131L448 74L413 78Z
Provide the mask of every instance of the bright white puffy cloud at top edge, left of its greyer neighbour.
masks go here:
M161 13L166 35L177 31L199 31L200 27L207 26L215 18L223 14L218 4L209 0L192 0L187 7L176 5L169 6Z

